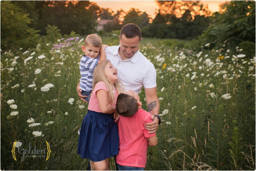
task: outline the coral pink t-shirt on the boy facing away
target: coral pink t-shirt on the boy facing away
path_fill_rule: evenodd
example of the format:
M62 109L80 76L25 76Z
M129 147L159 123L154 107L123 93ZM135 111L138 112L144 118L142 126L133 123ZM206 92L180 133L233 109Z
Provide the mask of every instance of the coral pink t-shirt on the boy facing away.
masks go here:
M116 163L122 166L146 167L149 134L144 124L152 122L151 114L139 109L131 117L120 116L117 125L119 132L119 153Z

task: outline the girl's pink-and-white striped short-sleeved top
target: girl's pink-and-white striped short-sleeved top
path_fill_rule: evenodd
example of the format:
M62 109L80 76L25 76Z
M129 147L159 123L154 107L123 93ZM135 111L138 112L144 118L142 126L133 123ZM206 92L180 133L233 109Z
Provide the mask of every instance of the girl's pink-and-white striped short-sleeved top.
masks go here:
M101 90L101 89L103 89L106 92L108 92L108 88L107 88L106 84L104 82L102 82L102 81L98 82L95 85L95 87L94 87L94 89L92 91L92 95L91 95L91 98L90 98L90 101L89 101L89 105L88 105L88 109L89 110L92 110L92 111L95 111L95 112L101 112L100 107L99 107L99 102L98 102L98 99L97 99L97 96L96 96L96 92L98 90ZM118 92L117 92L116 88L114 88L114 90L112 90L112 91L114 91L115 100L114 100L113 103L109 102L108 104L115 106L116 105L116 99L117 99L117 96L118 96Z

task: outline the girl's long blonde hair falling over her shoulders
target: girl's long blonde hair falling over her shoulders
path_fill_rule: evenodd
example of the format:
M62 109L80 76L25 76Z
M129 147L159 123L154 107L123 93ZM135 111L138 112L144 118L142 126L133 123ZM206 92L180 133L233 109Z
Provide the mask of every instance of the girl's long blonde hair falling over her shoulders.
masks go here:
M103 81L108 88L108 101L113 103L115 100L115 95L114 95L114 92L112 91L113 89L112 89L111 83L109 82L109 80L105 75L105 68L109 62L110 62L109 60L102 61L95 67L93 71L92 91L94 90L94 87L98 82ZM117 80L114 83L114 87L116 88L118 94L123 92L123 84L121 81Z

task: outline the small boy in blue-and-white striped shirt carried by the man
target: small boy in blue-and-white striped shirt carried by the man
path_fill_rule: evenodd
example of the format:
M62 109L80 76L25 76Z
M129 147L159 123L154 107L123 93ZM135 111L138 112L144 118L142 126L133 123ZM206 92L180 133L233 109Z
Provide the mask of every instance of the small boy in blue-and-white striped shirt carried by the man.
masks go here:
M107 45L102 45L101 38L96 34L88 35L85 39L82 51L84 55L80 60L80 89L81 94L85 95L84 99L89 103L92 92L93 70L98 63L106 60L105 49Z

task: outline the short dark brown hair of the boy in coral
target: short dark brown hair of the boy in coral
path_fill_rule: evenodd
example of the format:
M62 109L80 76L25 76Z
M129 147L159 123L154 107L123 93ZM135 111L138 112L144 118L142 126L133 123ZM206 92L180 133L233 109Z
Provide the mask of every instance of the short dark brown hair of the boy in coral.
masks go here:
M128 94L120 93L116 100L116 111L121 116L133 116L138 111L137 100Z

